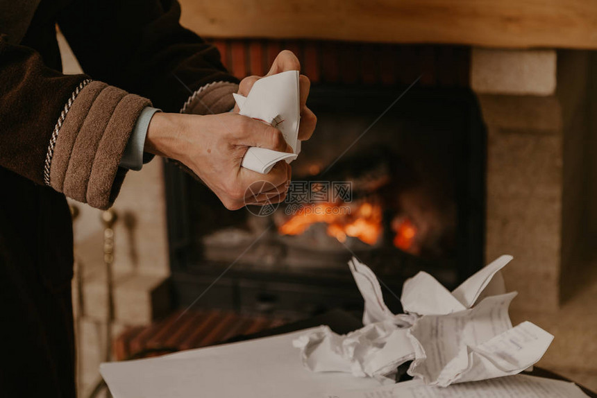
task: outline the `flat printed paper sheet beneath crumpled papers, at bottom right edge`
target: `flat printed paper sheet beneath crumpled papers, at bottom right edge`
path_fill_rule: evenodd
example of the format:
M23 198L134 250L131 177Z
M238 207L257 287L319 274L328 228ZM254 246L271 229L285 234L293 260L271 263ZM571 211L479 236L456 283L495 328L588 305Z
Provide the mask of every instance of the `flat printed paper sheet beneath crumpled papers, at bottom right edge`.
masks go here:
M328 392L326 398L586 398L574 383L518 374L442 388L420 380L371 390Z

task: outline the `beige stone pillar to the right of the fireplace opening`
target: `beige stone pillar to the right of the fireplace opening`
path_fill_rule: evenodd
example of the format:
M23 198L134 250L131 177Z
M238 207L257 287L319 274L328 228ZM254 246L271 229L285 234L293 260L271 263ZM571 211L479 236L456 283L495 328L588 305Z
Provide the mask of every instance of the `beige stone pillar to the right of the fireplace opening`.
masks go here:
M580 286L587 206L587 51L471 52L487 126L486 261L504 270L515 309L557 311Z

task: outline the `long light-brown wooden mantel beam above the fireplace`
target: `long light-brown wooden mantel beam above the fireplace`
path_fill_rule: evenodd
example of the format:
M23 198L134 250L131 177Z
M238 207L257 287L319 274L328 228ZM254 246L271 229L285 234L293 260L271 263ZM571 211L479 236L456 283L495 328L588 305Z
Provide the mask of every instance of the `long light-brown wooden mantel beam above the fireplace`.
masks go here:
M595 0L180 0L205 37L597 49Z

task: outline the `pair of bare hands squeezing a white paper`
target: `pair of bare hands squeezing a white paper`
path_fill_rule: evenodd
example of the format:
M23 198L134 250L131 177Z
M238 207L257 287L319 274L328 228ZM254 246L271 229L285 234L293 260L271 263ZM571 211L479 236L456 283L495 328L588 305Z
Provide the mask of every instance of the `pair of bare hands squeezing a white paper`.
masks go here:
M282 51L268 76L301 65L290 51ZM239 94L249 94L260 77L244 78ZM311 137L317 118L306 107L310 82L299 78L301 123L299 139ZM241 166L251 146L292 153L280 130L235 112L212 115L155 113L147 130L144 150L176 159L190 168L218 196L227 209L244 205L267 205L286 198L290 165L278 162L268 174L260 174Z

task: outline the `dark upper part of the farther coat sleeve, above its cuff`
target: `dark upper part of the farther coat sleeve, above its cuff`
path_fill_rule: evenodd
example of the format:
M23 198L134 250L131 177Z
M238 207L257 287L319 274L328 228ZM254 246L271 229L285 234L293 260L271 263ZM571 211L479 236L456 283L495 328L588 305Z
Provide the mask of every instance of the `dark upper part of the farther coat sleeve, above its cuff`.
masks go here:
M180 26L179 18L176 0L72 0L58 24L86 73L179 112L200 87L237 83L215 46ZM229 110L235 86L226 87L210 95L226 91Z

